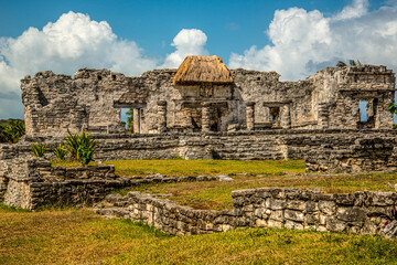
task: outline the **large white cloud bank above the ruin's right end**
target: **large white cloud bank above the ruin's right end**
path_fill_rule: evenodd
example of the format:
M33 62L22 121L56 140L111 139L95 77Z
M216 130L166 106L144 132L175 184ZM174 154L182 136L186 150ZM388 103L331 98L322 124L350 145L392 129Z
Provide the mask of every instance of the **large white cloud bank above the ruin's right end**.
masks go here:
M233 53L228 66L277 71L282 80L304 78L350 59L397 70L397 4L367 8L366 0L354 0L330 18L318 10L277 10L267 31L272 44Z

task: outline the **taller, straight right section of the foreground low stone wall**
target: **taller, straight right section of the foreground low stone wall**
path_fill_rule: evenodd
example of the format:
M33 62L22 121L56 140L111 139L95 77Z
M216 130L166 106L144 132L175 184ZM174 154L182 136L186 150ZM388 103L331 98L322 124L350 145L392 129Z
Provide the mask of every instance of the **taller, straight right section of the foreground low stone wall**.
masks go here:
M397 201L395 192L322 194L303 189L234 191L235 209L249 226L377 234Z

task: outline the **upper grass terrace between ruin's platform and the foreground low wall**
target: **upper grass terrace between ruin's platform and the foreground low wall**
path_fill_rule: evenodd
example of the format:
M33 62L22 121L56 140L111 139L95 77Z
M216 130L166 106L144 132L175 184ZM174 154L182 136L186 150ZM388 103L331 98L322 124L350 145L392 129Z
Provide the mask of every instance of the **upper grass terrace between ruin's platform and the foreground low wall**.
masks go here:
M121 177L162 173L169 176L230 174L232 182L180 182L147 184L121 191L171 194L170 200L195 209L232 209L232 191L260 187L311 188L322 192L355 192L363 190L394 191L397 174L303 174L302 160L235 161L235 160L119 160L116 174ZM238 173L251 173L240 176Z

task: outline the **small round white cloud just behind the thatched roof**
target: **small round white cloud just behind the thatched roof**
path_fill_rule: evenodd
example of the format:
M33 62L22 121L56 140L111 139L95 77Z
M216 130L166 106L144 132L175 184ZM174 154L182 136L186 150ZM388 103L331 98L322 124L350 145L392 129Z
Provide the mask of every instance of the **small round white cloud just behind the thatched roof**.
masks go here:
M208 51L204 47L206 41L207 36L201 30L181 30L171 44L175 46L176 51L167 55L165 62L161 67L178 67L187 55L208 55Z

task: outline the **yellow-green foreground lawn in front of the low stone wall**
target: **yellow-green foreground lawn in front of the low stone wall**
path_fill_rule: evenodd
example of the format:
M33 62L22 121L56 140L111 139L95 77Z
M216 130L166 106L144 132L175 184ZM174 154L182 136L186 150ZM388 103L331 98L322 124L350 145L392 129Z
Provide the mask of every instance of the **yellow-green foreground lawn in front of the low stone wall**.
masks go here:
M0 264L397 264L394 241L368 235L244 229L169 236L87 210L0 204Z

